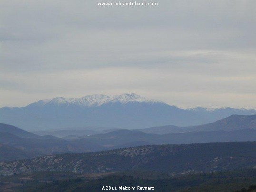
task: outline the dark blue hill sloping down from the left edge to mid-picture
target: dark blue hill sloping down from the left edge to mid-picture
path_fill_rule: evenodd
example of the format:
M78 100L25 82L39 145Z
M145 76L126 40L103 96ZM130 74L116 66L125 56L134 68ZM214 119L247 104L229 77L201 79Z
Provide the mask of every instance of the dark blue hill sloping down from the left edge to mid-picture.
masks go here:
M17 150L19 153L22 151L23 154L26 154L24 158L26 156L29 158L46 154L99 151L104 148L101 145L92 144L86 140L67 141L50 135L39 136L32 134L12 125L0 125L0 144L4 146L0 151L1 156L9 154L10 150ZM13 160L15 157L21 157L20 155L10 156ZM10 158L5 157L1 159Z

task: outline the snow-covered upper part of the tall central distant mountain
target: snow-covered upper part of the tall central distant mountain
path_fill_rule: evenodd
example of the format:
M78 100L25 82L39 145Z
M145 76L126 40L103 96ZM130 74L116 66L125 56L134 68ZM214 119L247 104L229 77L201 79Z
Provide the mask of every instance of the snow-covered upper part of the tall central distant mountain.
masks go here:
M145 103L162 103L162 101L147 99L143 96L139 96L135 93L132 94L122 94L116 96L107 96L107 95L90 95L84 96L80 98L63 98L56 97L54 99L49 100L40 100L36 103L30 104L29 106L80 106L80 107L95 107L101 106L103 104L113 102L119 102L121 104L127 104L129 102L145 102Z

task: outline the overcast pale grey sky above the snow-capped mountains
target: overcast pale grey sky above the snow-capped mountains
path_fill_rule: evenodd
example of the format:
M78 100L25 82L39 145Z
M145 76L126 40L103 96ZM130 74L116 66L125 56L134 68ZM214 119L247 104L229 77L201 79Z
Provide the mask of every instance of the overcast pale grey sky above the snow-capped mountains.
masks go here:
M98 2L0 0L0 107L132 92L256 106L255 0Z

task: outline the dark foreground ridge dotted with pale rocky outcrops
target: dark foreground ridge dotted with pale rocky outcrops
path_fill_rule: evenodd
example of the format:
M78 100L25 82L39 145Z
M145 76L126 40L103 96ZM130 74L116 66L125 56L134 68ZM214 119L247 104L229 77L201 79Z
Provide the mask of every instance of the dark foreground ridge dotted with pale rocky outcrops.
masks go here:
M256 142L238 142L147 145L96 153L48 155L31 160L0 163L0 174L40 171L105 173L136 169L178 174L254 166Z

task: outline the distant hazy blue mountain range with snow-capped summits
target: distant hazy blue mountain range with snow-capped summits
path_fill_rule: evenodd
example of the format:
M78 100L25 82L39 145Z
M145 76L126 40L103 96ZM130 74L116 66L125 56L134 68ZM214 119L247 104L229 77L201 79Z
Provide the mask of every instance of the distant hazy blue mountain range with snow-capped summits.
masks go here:
M229 115L255 115L255 109L181 109L135 93L119 96L91 95L40 100L24 107L0 108L0 122L24 130L42 131L67 127L193 126L212 123Z

